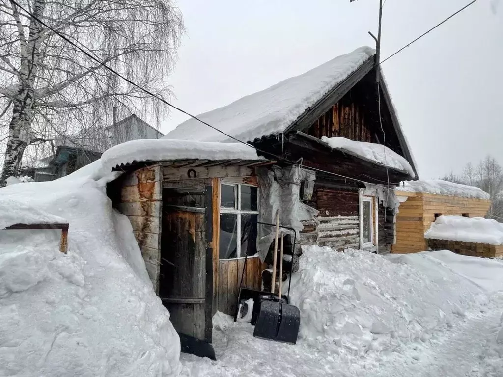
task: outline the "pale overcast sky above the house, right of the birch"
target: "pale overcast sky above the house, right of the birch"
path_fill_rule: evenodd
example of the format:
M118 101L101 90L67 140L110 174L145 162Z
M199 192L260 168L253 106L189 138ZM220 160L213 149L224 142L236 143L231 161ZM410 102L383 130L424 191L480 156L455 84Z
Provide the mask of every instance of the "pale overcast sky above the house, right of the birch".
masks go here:
M386 0L382 58L469 0ZM503 163L503 4L479 0L383 64L420 177ZM499 2L501 3L501 2ZM378 0L179 0L187 34L168 78L173 103L200 114L374 46ZM172 111L166 133L187 116ZM218 125L214 125L218 127ZM201 127L205 127L201 125Z

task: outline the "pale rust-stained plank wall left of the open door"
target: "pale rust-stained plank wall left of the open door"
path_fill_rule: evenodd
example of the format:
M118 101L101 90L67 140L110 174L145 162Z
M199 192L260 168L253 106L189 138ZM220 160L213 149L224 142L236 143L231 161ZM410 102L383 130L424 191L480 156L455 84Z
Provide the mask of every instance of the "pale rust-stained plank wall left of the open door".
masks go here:
M148 275L159 291L162 175L159 165L129 173L120 187L119 211L129 218Z

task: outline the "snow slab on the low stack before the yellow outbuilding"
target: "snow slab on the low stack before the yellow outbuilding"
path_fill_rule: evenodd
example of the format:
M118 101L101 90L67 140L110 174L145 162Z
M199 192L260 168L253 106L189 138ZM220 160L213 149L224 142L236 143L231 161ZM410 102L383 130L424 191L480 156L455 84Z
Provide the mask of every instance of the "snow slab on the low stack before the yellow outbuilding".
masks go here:
M481 217L440 216L425 232L425 238L503 244L503 224Z

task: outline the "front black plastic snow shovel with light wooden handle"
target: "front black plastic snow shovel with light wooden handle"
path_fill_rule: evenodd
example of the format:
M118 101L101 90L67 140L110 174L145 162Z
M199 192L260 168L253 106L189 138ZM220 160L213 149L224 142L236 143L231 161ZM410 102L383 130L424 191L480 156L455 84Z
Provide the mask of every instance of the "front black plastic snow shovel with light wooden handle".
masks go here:
M259 301L259 316L253 335L257 338L295 344L299 335L300 310L288 304L281 294L283 284L283 233L281 233L280 280L278 295L276 286L276 258L278 254L279 211L276 213L276 236L274 239L273 278L271 295ZM290 276L290 279L292 277Z

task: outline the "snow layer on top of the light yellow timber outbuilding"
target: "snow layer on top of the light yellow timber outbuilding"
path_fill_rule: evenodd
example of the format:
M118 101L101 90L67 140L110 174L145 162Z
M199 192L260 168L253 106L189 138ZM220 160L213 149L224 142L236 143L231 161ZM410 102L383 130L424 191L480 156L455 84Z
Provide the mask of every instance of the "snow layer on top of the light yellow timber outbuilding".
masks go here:
M490 199L489 194L475 186L449 182L442 179L409 180L402 182L396 191L405 193L427 193L452 197Z

